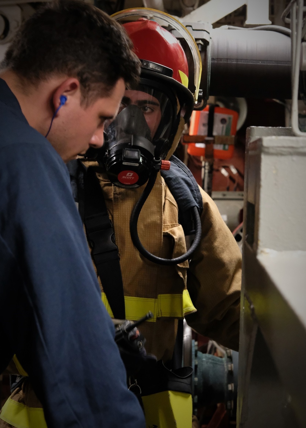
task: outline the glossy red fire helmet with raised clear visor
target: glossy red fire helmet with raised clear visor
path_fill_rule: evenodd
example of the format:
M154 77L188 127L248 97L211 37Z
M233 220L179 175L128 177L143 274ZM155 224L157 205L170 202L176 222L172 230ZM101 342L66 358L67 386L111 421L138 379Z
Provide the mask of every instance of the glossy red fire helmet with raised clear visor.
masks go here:
M190 109L198 98L202 62L187 28L173 16L149 8L125 9L112 16L130 36L143 77L163 80Z

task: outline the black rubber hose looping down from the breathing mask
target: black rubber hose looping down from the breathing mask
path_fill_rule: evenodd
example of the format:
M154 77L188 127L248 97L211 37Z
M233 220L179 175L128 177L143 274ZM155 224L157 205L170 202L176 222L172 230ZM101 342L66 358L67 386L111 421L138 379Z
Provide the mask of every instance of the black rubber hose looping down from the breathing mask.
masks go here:
M157 263L158 265L178 265L179 263L185 262L190 258L190 256L193 254L193 252L196 250L196 247L198 247L200 241L201 241L201 235L202 235L202 228L201 228L201 219L199 215L199 211L197 207L191 208L191 214L192 219L195 226L195 238L194 241L190 247L190 249L187 251L187 253L183 254L182 256L176 257L175 259L163 259L161 257L154 256L154 254L150 253L143 247L143 244L141 244L138 232L137 232L137 223L138 218L140 215L140 211L143 208L143 205L145 204L146 200L148 199L149 194L151 193L151 190L153 189L154 183L156 181L158 170L154 170L152 174L149 177L148 183L145 187L145 190L143 190L143 194L140 196L137 204L134 207L134 210L131 215L130 220L130 232L131 232L131 238L132 242L137 248L137 250L142 254L146 259L150 260L153 263Z

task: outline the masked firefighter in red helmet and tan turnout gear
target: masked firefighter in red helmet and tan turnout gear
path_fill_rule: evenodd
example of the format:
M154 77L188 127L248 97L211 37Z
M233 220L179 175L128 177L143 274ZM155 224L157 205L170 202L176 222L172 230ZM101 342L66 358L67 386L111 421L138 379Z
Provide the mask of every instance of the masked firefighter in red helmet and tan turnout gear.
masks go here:
M150 374L144 360L135 375L147 427L191 428L191 374L175 360L177 333L185 318L196 332L238 349L241 253L212 199L172 156L198 97L196 43L163 12L128 9L114 18L134 43L141 79L125 91L104 147L88 154L95 160L69 165L72 189L110 316L137 321L153 314L140 330L157 364L151 361ZM191 255L188 235L197 240ZM27 421L18 419L19 404ZM30 380L23 380L3 407L0 427L36 428L40 407Z

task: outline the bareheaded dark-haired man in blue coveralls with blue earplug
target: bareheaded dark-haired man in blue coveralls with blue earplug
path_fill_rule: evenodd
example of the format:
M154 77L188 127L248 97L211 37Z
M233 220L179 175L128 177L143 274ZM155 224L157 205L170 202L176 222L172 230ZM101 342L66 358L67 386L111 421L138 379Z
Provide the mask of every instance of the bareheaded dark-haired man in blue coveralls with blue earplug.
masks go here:
M0 372L14 357L45 410L19 402L6 422L142 427L64 163L102 146L139 61L119 24L65 0L24 23L2 66Z

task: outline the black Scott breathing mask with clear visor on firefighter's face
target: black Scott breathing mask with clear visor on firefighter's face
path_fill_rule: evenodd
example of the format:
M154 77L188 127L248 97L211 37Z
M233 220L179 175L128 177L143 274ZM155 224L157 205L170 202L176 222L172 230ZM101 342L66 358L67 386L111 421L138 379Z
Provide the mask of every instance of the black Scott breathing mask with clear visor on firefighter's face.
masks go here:
M164 85L142 78L137 88L127 90L97 158L110 181L133 189L163 168L179 119L176 97Z

